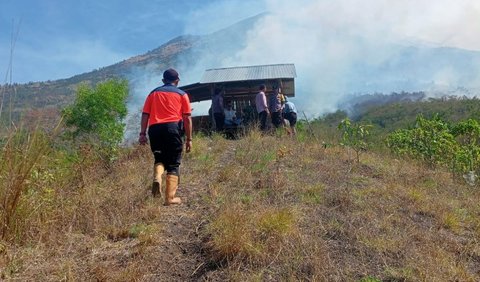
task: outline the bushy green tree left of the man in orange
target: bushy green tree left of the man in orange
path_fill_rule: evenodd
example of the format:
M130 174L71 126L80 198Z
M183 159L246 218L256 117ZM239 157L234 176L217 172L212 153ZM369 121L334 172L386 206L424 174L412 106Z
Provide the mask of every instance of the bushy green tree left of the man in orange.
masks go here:
M75 102L63 111L73 139L106 149L114 157L123 139L127 97L128 82L123 79L107 80L94 88L80 85Z

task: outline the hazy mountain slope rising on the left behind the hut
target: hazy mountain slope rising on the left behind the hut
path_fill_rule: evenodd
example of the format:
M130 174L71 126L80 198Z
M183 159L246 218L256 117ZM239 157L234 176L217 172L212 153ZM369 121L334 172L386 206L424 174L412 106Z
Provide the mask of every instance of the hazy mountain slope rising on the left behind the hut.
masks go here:
M91 72L82 73L66 79L54 81L31 82L26 84L3 85L5 103L9 103L10 95L15 102L15 112L25 108L62 108L73 101L74 93L80 83L95 85L110 78L126 78L131 84L142 80L142 75L161 77L165 68L185 64L188 61L198 61L201 54L213 63L242 48L238 42L245 42L247 31L262 15L252 17L232 25L226 29L203 36L179 36L160 47L111 66L106 66ZM215 42L231 42L230 48L220 50ZM223 44L225 47L225 44ZM206 52L209 51L209 52ZM145 69L148 68L148 73ZM0 96L0 99L2 97ZM5 106L4 106L5 107Z

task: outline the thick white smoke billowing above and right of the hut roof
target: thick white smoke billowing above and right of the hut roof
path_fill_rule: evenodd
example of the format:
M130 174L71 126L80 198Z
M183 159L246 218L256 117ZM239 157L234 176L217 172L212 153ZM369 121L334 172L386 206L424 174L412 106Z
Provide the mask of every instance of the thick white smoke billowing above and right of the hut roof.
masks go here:
M233 2L226 3L235 10ZM380 85L365 80L377 75L365 73L370 67L392 64L407 45L480 51L480 2L475 0L266 0L261 6L268 15L249 32L246 47L217 67L294 63L298 77L293 101L310 115L336 109L346 93L428 90L417 84L429 81L406 85L416 78L415 72L434 72L430 77L435 84L460 83L462 74L448 66L391 74L386 70ZM212 7L196 14L204 14L207 25L216 21ZM401 64L399 60L394 63ZM479 76L474 79L471 85L480 85Z

